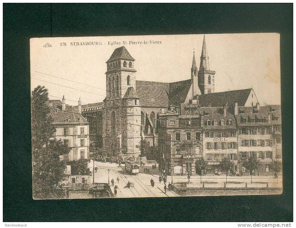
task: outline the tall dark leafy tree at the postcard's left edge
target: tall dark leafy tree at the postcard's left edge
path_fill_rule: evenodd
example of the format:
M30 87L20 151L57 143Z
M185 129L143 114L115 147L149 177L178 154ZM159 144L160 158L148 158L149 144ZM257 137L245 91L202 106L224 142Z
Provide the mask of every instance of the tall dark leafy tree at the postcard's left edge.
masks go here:
M48 106L48 92L43 86L32 91L32 187L34 199L55 199L64 197L64 191L58 187L66 170L60 156L67 154L70 148L62 141L52 141L55 127Z

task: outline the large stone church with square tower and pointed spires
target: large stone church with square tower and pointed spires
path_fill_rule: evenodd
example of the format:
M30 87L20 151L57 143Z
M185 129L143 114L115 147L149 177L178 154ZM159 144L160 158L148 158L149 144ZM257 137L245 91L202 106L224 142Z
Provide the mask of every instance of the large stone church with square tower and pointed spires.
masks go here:
M215 71L210 69L205 36L200 67L197 68L193 53L191 77L187 80L170 83L136 80L136 61L124 46L114 50L106 69L106 98L96 105L100 108L93 109L93 104L89 104L82 111L85 115L96 110L102 112L102 128L96 134L101 133L97 138L101 138L108 157L138 157L139 144L144 139L150 146L157 145L161 113L179 112L182 104L194 98L198 97L201 107L220 107L237 101L240 106L258 103L253 89L215 93Z

